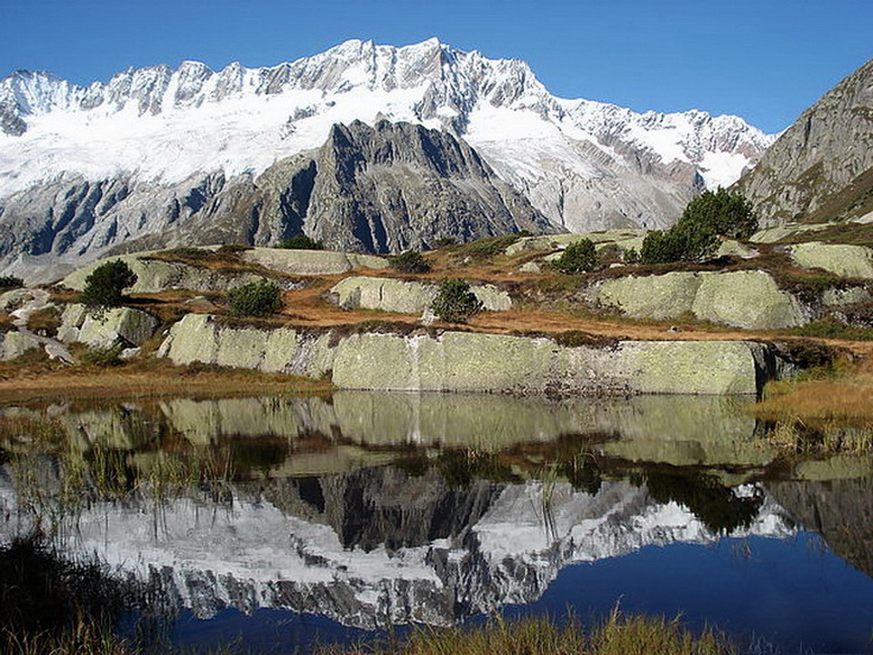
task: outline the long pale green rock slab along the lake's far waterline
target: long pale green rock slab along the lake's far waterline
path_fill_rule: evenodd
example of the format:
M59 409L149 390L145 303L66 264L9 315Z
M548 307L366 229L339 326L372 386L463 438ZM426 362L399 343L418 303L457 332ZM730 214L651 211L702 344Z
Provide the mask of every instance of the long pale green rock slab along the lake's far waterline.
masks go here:
M790 367L743 341L622 341L569 348L547 338L444 332L331 334L230 328L188 315L159 355L321 378L338 388L520 394L756 394Z

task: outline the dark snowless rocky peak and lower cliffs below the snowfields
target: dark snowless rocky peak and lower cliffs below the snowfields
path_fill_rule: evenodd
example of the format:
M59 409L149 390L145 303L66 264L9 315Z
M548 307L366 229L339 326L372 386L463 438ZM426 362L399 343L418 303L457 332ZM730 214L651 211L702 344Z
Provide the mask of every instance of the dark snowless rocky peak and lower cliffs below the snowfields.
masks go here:
M195 200L179 197L185 185L134 186L58 183L0 201L0 262L45 279L101 253L271 246L301 231L332 249L387 253L447 237L558 229L462 140L385 120L333 126L323 146L254 179L205 179L201 191L188 193Z

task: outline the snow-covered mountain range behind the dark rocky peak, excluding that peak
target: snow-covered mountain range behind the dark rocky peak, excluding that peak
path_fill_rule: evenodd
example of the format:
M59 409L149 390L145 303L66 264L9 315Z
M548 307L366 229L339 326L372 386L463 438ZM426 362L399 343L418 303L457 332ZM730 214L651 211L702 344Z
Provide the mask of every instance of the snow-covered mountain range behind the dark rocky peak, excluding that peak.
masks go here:
M0 81L0 227L15 224L0 235L0 266L76 263L167 228L193 243L183 224L194 218L203 225L199 212L227 186L257 184L271 166L326 146L334 126L362 121L375 129L383 120L466 142L553 229L571 231L666 226L689 197L733 182L772 141L736 116L637 114L560 99L524 62L487 59L436 39L405 47L347 41L267 68L232 64L215 72L184 62L176 70L129 69L87 87L19 71ZM464 202L477 203L477 189L469 191ZM516 199L509 204L522 207ZM250 217L251 207L236 208L236 217ZM319 212L329 220L326 207ZM376 222L390 227L397 216ZM428 220L412 217L418 225ZM347 235L347 213L337 225L333 231ZM296 227L319 232L308 220ZM415 231L328 245L368 249L372 242L377 249L380 241L428 240L412 237Z

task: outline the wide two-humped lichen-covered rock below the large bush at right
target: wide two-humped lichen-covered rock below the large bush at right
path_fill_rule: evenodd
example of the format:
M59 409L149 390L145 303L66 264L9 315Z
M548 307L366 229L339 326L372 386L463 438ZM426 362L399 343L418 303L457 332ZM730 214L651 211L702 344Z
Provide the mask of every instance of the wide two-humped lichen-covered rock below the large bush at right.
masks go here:
M674 272L598 282L591 301L637 318L700 320L744 329L788 328L808 322L808 312L765 271Z

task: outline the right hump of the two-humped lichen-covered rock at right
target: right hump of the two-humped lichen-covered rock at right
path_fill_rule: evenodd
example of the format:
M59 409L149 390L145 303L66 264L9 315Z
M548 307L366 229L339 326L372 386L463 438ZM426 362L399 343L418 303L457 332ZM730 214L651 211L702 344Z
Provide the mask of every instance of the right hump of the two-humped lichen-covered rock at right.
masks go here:
M798 299L764 271L706 273L691 311L701 320L744 329L789 328L807 322Z

